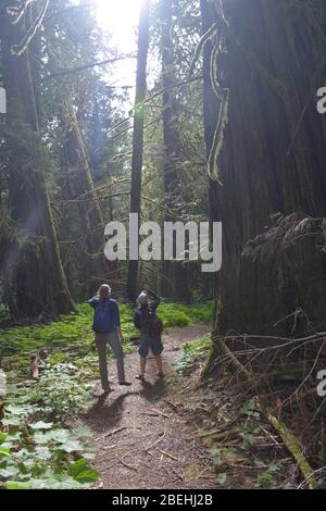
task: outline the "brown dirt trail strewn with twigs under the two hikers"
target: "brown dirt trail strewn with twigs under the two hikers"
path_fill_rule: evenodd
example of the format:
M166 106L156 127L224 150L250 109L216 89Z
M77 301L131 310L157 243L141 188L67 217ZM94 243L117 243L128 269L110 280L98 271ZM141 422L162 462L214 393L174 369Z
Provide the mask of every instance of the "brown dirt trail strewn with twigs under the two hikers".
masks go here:
M110 379L114 391L96 399L85 417L99 446L95 468L101 473L97 487L105 489L216 487L213 465L197 440L193 428L178 415L177 382L173 363L183 345L209 333L209 326L172 328L164 336L165 381L158 381L153 359L148 361L147 383L138 374L138 353L125 359L131 387L116 383L114 361Z

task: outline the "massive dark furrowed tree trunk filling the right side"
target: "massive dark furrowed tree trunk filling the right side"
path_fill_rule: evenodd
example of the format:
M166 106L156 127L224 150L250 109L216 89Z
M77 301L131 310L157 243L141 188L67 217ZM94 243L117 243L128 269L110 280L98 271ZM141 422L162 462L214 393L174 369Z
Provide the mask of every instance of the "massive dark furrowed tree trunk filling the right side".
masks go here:
M326 212L325 123L316 111L316 91L325 85L325 2L202 0L201 4L205 20L212 5L224 8L226 23L217 10L210 15L211 24L220 20L225 33L227 52L217 55L217 79L230 89L218 158L223 186L211 186L212 215L223 221L220 332L266 333L300 307L317 328L325 328L325 262L317 251L305 266L306 275L312 275L310 264L319 269L319 278L308 278L315 290L311 300L303 288L301 294L289 290L287 297L280 296L272 264L241 257L244 245L271 224L271 215L299 212L319 217ZM212 42L205 52L210 151L211 112L221 100L208 85ZM279 331L288 334L289 324L283 322Z

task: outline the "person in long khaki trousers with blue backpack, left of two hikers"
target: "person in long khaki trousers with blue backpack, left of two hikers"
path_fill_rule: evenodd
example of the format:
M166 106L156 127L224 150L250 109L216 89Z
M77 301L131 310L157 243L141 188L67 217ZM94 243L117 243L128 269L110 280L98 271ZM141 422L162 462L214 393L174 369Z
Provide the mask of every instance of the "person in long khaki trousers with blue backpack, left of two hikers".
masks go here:
M108 378L106 345L116 359L116 369L120 385L131 385L125 379L124 353L122 348L123 335L120 325L120 312L117 302L111 298L111 287L102 284L97 296L88 303L95 309L92 329L96 334L96 345L99 352L99 364L101 383L104 394L109 394L112 388Z

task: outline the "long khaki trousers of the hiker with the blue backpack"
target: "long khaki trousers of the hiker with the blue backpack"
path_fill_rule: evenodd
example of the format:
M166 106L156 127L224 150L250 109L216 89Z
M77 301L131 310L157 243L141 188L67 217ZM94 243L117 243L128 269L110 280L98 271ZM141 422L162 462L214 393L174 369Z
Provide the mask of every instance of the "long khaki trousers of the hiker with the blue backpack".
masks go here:
M109 377L108 377L108 359L106 359L106 345L110 345L114 357L116 359L116 370L117 370L117 377L120 382L125 381L125 366L124 366L124 352L121 346L121 341L116 332L112 332L111 334L98 334L96 333L96 345L99 352L99 363L100 363L100 374L101 374L101 383L104 390L106 390L109 385Z

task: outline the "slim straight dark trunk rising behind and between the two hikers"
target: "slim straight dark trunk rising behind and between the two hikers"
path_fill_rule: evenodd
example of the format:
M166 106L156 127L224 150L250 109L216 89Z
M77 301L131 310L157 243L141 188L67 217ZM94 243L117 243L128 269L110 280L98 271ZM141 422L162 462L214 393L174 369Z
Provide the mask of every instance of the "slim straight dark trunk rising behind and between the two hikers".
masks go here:
M136 77L136 99L135 99L135 119L133 137L133 161L131 161L131 192L130 192L130 213L137 213L140 219L141 202L141 169L143 154L143 119L147 89L147 57L149 48L149 10L150 0L143 0L139 14L138 33L138 58L137 58L137 77ZM136 237L135 237L136 240ZM135 242L129 240L129 246ZM137 234L138 246L138 234ZM133 247L135 250L136 247ZM138 259L129 260L127 295L130 301L136 300L137 281L138 281Z

